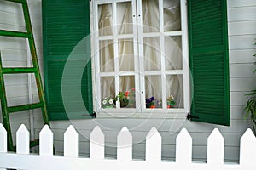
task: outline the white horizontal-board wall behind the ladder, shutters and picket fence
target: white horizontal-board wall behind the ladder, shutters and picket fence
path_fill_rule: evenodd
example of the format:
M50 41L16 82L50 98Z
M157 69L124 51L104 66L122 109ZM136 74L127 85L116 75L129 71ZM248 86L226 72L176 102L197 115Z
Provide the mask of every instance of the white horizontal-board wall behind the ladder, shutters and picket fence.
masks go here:
M42 66L42 27L41 27L41 0L29 0L31 9L32 26L36 39L39 62ZM0 26L9 26L9 22L15 22L15 26L22 27L19 20L15 17L20 17L19 11L16 8L10 8L12 13L6 12L4 8L6 4L0 2ZM2 5L3 4L3 5ZM229 20L229 41L230 41L230 109L231 109L231 126L223 127L200 122L188 122L184 119L184 114L167 116L165 119L157 118L146 119L143 116L133 116L132 118L111 118L97 117L94 120L80 121L56 121L51 122L51 127L55 133L55 150L58 154L63 152L63 133L69 124L73 124L79 131L79 154L89 156L88 136L93 127L100 125L106 134L106 156L115 157L116 135L121 127L126 126L131 129L134 137L135 145L133 149L134 158L144 158L145 155L145 139L150 127L158 127L163 137L163 157L167 160L173 159L175 156L175 138L181 127L186 127L193 137L193 159L205 161L207 156L207 136L212 132L212 129L218 127L225 139L225 161L237 161L239 159L239 139L241 134L245 132L247 127L250 127L250 121L244 119L243 108L246 105L247 97L245 94L255 88L256 75L253 75L253 54L256 54L256 47L253 46L256 42L256 1L255 0L228 0L228 20ZM4 16L6 17L2 17ZM12 25L12 24L10 24ZM0 27L2 28L2 27ZM26 55L26 48L14 49L15 42L3 43L0 39L0 49L5 51L5 60L12 59L11 64L26 64L26 58L21 56ZM19 47L19 46L18 46ZM2 52L2 53L3 53ZM3 54L4 54L3 53ZM13 59L7 56L16 56L18 53L19 59ZM15 55L16 54L16 55ZM26 88L26 77L20 80L20 85ZM27 98L27 94L20 94L20 86L13 86L12 83L19 81L9 80L9 88L14 87L13 99L19 102L23 98ZM18 95L19 94L19 95ZM35 111L38 113L39 111ZM164 116L162 116L164 117ZM21 117L20 117L21 118ZM28 118L26 114L24 119ZM22 117L23 119L23 117ZM20 119L19 119L20 120ZM14 121L15 122L15 121ZM16 121L17 122L17 121ZM19 123L19 122L17 122ZM38 136L38 131L42 127L42 117L39 114L35 115L35 131Z

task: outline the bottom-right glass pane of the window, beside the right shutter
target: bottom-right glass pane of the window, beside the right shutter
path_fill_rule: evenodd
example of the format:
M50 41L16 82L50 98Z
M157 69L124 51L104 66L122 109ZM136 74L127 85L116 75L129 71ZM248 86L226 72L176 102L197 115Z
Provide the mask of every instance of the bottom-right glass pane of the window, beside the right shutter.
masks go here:
M167 108L183 108L183 76L166 75Z

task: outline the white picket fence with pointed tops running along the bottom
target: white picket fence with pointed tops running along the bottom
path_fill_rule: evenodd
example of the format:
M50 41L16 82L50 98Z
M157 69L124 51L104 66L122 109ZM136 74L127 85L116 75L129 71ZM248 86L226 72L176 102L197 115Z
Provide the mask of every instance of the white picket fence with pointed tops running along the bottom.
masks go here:
M256 139L247 129L241 137L240 163L224 163L224 138L214 129L207 139L207 162L192 162L192 139L183 130L176 139L176 161L161 161L161 136L152 127L146 137L145 161L132 160L132 136L123 127L117 138L117 159L104 158L104 134L100 127L90 133L90 158L79 157L79 136L73 126L64 133L64 156L53 155L53 133L47 125L39 134L39 155L29 153L29 132L21 125L16 133L17 150L7 152L7 133L0 124L0 169L31 170L252 170L256 167Z

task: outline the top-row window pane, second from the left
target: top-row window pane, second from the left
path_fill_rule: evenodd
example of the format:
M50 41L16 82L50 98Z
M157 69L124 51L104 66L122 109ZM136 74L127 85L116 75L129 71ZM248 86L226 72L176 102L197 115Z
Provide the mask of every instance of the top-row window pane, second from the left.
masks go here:
M119 34L133 32L131 2L117 3L117 25Z

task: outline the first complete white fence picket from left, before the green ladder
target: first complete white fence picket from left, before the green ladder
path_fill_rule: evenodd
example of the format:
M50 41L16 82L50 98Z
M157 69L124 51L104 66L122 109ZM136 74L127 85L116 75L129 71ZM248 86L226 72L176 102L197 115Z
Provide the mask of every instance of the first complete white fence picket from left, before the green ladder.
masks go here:
M16 132L16 146L17 154L29 154L30 136L29 132L24 124L20 125L20 128Z

